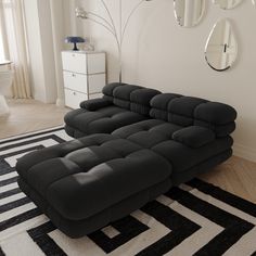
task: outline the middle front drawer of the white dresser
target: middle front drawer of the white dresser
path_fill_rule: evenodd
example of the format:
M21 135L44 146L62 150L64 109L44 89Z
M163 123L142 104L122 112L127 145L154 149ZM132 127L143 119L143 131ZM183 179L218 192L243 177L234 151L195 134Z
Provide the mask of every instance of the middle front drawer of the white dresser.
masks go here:
M82 93L87 92L87 75L63 72L64 87Z

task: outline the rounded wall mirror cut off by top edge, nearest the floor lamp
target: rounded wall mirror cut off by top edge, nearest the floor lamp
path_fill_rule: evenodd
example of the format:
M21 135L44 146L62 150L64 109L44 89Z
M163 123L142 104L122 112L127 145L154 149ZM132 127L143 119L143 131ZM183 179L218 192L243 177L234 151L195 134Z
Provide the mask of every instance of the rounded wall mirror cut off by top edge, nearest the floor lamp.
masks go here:
M205 13L205 0L174 0L175 17L181 27L193 27Z

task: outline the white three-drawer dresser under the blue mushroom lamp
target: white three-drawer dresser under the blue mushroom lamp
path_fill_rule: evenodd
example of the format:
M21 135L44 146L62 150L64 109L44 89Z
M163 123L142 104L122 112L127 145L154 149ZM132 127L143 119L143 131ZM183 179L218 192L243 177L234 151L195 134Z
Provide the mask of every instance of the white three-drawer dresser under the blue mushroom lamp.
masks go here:
M77 108L85 100L99 98L106 82L105 53L63 51L65 105Z

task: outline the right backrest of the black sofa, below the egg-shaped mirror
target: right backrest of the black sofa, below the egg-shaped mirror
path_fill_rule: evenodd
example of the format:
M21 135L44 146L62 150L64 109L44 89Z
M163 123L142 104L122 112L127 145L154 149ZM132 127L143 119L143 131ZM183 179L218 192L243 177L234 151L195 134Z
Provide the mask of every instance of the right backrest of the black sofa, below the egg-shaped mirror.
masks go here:
M196 125L226 137L235 129L236 112L233 107L204 99L162 93L151 100L150 116L183 127Z

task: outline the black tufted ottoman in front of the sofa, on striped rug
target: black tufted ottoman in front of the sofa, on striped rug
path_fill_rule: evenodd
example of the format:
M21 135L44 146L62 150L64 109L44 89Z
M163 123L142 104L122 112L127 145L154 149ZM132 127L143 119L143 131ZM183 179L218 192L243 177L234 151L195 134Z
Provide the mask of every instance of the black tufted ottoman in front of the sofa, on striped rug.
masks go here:
M111 135L33 152L16 168L22 190L71 238L130 214L171 185L163 156Z

